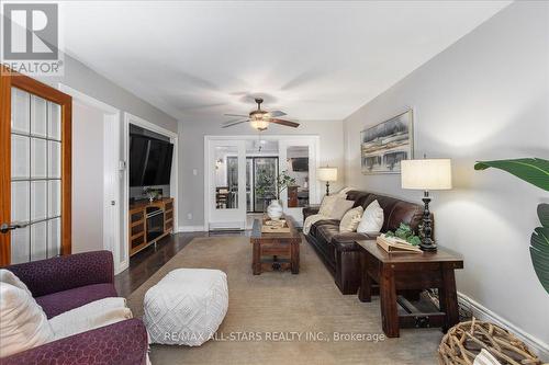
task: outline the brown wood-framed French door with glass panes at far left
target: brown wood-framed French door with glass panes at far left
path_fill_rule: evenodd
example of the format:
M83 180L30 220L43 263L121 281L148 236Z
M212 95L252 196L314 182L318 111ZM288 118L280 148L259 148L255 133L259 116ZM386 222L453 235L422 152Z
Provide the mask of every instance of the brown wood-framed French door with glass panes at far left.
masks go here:
M71 98L0 69L0 265L70 253Z

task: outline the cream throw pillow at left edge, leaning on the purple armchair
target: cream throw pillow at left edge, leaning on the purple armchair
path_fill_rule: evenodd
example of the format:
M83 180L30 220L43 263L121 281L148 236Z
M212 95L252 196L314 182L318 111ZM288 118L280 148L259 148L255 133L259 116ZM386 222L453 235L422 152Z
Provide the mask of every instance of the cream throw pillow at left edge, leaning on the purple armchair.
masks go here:
M24 289L0 282L0 357L54 340L46 313Z

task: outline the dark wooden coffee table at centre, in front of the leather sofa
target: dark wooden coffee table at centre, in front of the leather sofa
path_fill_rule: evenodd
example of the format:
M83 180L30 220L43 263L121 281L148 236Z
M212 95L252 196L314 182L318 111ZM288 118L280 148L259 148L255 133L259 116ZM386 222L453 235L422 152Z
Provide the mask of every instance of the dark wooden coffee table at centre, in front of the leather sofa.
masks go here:
M264 219L255 219L250 242L254 247L251 270L254 275L265 271L291 270L292 274L300 272L300 242L301 235L295 229L291 217L282 217L290 227L290 232L264 233Z

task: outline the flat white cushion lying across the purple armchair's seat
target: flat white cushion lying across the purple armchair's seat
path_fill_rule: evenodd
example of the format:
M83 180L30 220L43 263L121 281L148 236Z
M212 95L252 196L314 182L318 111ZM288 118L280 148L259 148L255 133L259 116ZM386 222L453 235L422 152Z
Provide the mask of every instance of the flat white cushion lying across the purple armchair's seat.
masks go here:
M124 298L103 298L49 319L55 340L131 319Z

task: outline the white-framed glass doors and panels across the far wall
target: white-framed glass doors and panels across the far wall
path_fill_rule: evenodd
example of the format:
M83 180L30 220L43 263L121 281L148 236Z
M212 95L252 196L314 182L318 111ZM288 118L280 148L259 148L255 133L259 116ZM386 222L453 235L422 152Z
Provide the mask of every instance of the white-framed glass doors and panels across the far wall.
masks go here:
M208 229L249 229L277 198L300 225L301 208L320 201L317 148L317 136L205 136ZM284 175L288 187L277 183Z

